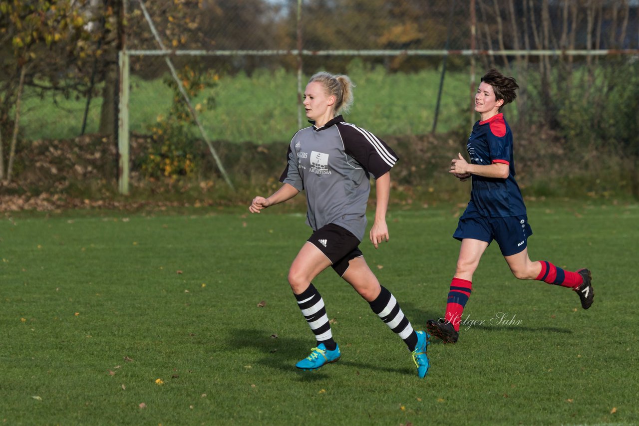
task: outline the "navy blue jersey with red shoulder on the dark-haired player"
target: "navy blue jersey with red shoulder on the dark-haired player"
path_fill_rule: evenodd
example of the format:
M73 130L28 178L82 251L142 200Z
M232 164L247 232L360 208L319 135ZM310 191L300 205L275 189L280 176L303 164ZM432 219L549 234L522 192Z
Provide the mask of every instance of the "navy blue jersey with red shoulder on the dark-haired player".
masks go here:
M512 158L512 132L504 119L497 114L486 121L477 121L468 138L468 155L472 164L508 164L508 178L484 178L472 176L470 202L463 217L511 217L526 214L526 206L515 180Z

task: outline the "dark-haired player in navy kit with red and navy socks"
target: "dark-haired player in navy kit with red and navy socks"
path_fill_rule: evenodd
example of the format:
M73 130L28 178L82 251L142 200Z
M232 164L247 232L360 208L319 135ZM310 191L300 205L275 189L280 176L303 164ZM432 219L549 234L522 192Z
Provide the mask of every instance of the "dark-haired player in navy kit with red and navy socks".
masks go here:
M482 77L475 94L475 111L480 119L473 126L467 145L470 163L459 153L450 166L450 173L462 181L472 177L472 190L453 234L461 241L461 248L450 283L446 314L426 323L428 332L445 343L458 340L473 273L493 240L497 241L513 275L520 280L541 280L573 289L584 309L592 305L594 298L589 270L565 271L548 261L533 262L528 257L527 243L532 229L515 181L511 128L501 113L502 107L516 98L518 87L515 79L495 69Z

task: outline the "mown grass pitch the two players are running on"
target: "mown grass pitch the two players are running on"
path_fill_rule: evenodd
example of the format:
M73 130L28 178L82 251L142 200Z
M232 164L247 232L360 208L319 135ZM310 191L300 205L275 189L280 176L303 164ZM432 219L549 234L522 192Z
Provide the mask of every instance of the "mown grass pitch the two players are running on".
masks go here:
M458 213L391 208L392 240L362 245L415 328L443 314ZM454 346L432 342L424 380L330 270L314 284L342 359L293 367L314 343L286 283L309 234L295 209L4 217L0 422L639 423L639 206L532 203L528 217L531 256L589 267L594 305L516 280L489 247L465 312L484 323Z

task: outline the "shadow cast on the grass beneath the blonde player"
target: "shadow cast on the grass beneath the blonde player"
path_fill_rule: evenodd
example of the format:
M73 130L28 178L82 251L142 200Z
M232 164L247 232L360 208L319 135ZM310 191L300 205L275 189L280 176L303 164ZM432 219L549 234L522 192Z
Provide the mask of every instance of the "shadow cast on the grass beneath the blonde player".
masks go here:
M309 339L299 339L293 337L274 337L270 332L259 329L236 329L231 330L231 334L228 337L227 345L234 350L241 349L254 349L259 351L262 356L256 359L256 363L269 367L272 369L281 370L282 372L289 372L297 374L300 380L304 381L318 381L327 379L330 376L321 370L304 371L295 368L295 363L302 359L304 354L310 353L311 347ZM401 342L397 342L401 344ZM399 367L380 366L378 363L367 363L355 358L349 359L350 350L347 347L341 346L342 357L335 365L353 367L357 370L371 370L371 371L383 371L393 374L408 374L413 376L415 370L412 368L412 360L410 359L410 353L406 351L406 365ZM351 355L357 356L357 355Z

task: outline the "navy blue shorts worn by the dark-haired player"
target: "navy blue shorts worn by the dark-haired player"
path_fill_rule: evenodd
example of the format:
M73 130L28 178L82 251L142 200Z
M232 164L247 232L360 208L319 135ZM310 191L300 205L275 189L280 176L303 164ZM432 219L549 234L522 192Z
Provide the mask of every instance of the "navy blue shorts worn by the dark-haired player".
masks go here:
M465 238L486 241L497 241L502 255L511 256L523 251L528 245L528 237L532 229L528 225L528 217L470 217L460 218L453 238L461 241Z

